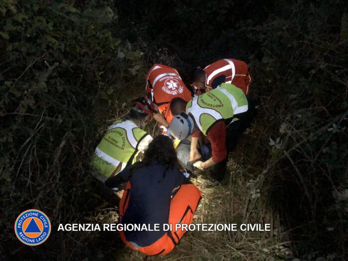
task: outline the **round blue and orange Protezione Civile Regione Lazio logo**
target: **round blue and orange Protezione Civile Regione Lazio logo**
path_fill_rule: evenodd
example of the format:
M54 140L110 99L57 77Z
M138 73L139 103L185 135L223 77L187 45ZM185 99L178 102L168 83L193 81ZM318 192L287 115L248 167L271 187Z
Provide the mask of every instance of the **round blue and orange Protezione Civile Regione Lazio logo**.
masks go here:
M51 222L45 213L28 209L17 217L14 232L23 244L37 246L48 239L51 233Z

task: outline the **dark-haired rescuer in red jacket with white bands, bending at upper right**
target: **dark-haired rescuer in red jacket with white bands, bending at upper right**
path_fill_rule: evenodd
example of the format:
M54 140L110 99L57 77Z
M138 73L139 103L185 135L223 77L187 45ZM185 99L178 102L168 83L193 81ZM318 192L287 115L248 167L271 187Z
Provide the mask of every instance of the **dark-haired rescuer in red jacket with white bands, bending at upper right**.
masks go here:
M197 95L215 89L223 83L233 84L248 95L252 83L248 65L235 59L222 59L204 69L195 68L189 72L187 78Z

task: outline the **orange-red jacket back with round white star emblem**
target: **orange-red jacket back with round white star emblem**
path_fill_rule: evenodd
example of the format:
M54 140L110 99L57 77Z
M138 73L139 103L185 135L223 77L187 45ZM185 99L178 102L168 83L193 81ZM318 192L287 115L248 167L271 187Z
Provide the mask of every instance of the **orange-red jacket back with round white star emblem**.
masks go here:
M191 92L183 84L176 69L155 64L145 77L146 92L151 93L153 101L157 104L169 103L175 97L181 97L188 101L191 99Z

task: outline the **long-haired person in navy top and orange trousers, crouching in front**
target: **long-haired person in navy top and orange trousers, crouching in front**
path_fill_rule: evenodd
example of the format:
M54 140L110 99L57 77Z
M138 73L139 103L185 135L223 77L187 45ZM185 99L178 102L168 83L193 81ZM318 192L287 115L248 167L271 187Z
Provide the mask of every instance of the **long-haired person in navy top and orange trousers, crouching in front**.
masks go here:
M119 231L122 241L146 255L170 253L185 234L185 230L175 230L175 224L192 222L202 196L181 172L172 140L165 135L154 138L141 162L107 179L105 185L115 187L124 182L119 223L159 227L158 231ZM172 224L172 229L165 231L164 224Z

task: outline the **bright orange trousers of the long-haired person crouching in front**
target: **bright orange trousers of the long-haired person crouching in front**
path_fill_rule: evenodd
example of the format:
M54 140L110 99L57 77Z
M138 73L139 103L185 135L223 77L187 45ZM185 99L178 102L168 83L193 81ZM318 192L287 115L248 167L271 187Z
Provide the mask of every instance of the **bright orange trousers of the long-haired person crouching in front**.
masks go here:
M126 186L126 189L127 189L127 186ZM120 202L120 216L124 214L124 211L126 211L128 206L128 203L126 203L125 207L123 208L123 204L126 201L126 197L127 197L126 193L123 193L123 196ZM202 193L194 184L181 185L171 200L168 224L173 225L173 231L168 231L154 244L147 247L140 248L140 249L134 248L127 241L123 231L119 231L122 241L124 242L124 244L126 244L127 247L133 250L139 251L141 253L144 253L146 255L161 255L162 256L162 255L166 255L170 253L186 232L185 230L175 231L175 224L177 223L191 224L193 215L197 209L197 206L201 197L202 197ZM122 209L122 212L121 212L121 209Z

